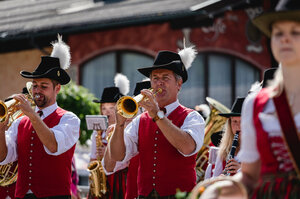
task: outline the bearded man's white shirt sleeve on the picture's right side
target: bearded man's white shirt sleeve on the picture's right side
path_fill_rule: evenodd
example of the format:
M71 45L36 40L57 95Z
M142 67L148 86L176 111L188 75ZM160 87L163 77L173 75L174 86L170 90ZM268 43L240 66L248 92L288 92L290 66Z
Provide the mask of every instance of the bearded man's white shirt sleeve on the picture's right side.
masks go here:
M66 112L60 119L58 125L50 128L57 142L57 151L51 153L45 146L49 155L60 155L69 150L79 139L80 120L72 112Z

